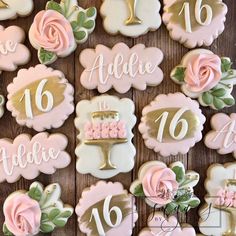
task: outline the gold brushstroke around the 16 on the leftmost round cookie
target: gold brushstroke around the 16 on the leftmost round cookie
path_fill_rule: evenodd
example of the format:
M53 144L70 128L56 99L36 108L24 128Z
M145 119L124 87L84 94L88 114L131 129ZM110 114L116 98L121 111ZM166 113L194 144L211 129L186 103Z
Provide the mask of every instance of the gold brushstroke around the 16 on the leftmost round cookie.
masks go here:
M19 112L19 119L27 119L26 111L25 111L25 99L22 100L24 97L24 91L26 89L30 89L31 92L31 105L32 111L34 116L38 116L44 114L42 111L39 111L36 102L35 102L35 93L39 83L43 80L47 79L47 83L44 86L43 91L50 91L53 95L53 108L60 105L64 101L64 91L66 89L66 84L61 83L60 77L53 76L53 77L45 77L39 79L33 83L28 84L24 88L18 90L13 96L10 98L13 107ZM46 96L42 97L42 105L43 107L47 106L47 98Z

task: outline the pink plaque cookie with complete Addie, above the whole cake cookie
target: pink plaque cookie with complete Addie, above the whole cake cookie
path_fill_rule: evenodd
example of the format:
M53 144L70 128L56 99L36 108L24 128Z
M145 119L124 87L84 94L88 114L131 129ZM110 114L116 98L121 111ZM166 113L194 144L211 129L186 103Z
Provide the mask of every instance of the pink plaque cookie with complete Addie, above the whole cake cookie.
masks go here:
M80 54L80 62L85 68L80 81L86 89L98 89L105 93L114 88L126 93L131 87L145 90L147 85L156 86L163 80L159 64L163 53L158 48L146 48L137 44L129 48L124 43L112 49L97 45L95 50L85 49Z

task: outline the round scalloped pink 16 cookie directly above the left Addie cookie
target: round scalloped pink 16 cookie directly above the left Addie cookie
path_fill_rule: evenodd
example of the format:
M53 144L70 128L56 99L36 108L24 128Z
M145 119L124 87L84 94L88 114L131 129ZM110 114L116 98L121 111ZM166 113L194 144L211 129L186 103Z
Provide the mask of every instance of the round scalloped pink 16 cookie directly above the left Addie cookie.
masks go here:
M61 71L44 65L19 70L7 90L7 109L36 131L59 128L74 111L74 88Z

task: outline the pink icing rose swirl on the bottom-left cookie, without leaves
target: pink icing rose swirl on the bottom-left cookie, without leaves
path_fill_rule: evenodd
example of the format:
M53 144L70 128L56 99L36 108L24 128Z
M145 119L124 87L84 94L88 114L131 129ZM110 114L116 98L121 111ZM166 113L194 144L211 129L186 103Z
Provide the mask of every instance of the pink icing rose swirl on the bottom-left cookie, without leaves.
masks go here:
M39 203L26 194L10 197L4 204L5 223L17 236L35 235L39 232L41 210Z

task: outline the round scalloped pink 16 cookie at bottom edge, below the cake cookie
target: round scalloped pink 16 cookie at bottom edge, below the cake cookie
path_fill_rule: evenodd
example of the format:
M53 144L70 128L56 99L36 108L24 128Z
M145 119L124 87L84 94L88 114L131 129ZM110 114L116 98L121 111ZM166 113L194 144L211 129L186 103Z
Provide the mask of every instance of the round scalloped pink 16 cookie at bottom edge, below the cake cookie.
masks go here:
M75 211L87 236L130 236L138 219L132 195L118 182L99 181L85 189Z

